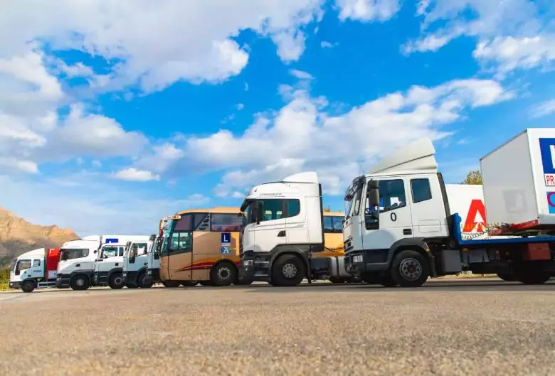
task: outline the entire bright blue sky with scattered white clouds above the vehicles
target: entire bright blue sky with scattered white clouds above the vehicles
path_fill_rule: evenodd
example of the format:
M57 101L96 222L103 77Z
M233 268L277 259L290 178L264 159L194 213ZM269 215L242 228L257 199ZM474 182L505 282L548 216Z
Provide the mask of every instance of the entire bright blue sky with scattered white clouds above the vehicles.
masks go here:
M548 0L6 4L0 205L79 235L151 233L300 171L342 210L421 136L457 183L555 120Z

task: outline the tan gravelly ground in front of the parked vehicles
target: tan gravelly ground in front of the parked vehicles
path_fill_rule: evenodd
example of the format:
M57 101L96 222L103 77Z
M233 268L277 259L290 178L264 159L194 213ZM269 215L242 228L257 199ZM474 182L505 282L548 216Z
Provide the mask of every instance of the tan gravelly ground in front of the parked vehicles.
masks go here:
M0 294L0 375L554 375L555 284Z

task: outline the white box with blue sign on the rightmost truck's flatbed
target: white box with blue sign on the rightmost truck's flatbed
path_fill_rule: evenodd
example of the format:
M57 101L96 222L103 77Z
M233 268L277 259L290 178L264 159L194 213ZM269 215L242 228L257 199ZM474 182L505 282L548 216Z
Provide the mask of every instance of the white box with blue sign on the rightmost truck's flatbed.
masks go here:
M555 227L555 129L529 128L480 159L487 220Z

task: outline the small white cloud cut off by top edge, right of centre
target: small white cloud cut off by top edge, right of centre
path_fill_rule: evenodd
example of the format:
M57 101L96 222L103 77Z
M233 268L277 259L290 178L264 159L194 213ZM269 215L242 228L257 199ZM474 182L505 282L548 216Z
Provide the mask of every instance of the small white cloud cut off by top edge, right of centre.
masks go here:
M401 9L399 0L335 0L339 6L339 19L359 21L386 21Z

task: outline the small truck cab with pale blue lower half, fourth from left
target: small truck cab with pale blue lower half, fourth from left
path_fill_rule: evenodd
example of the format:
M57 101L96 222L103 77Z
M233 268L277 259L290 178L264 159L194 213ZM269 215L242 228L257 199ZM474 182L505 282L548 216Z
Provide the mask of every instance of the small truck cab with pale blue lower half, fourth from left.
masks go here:
M123 281L128 288L152 286L147 280L149 252L156 235L150 235L148 242L127 242L123 255Z

